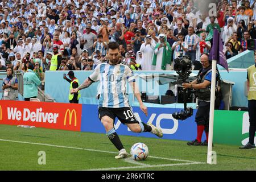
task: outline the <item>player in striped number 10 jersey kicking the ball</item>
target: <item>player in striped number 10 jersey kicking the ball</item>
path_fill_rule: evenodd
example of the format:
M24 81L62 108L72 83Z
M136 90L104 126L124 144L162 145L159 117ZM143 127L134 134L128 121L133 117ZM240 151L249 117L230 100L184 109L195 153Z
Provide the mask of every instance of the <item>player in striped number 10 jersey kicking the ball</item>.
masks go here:
M98 115L101 123L104 125L106 135L119 154L115 159L127 158L128 154L123 148L123 144L114 129L115 117L125 124L134 133L151 132L162 138L162 130L156 128L152 123L143 123L137 121L126 97L126 80L130 83L134 95L139 102L139 106L144 114L147 115L147 107L143 105L138 86L135 84L133 70L125 61L120 60L119 44L111 42L107 48L109 61L98 64L79 88L72 89L71 93L77 93L81 89L88 88L93 82L100 80L100 95L98 105Z

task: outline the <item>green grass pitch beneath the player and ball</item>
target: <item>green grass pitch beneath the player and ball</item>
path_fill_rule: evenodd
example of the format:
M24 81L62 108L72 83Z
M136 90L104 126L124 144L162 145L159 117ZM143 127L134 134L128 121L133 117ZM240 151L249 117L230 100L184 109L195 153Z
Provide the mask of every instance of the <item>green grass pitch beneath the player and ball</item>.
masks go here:
M118 151L105 134L0 125L0 170L256 170L256 150L239 150L238 146L214 144L217 165L209 165L205 164L205 146L187 146L187 142L178 140L119 137L127 152L130 152L134 143L145 143L149 157L138 163L131 159L114 159ZM38 164L39 151L46 152L46 165Z

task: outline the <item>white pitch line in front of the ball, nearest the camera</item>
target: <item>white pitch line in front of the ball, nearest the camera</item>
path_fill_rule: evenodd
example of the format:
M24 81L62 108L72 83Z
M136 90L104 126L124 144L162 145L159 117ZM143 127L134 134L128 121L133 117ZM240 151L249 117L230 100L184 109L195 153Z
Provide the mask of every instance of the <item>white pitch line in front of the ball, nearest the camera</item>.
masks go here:
M79 171L111 171L115 169L137 169L137 168L151 168L151 167L170 167L170 166L188 166L192 164L206 164L206 163L178 163L178 164L158 164L158 165L147 165L147 166L130 166L130 167L110 167L110 168L97 168L97 169L85 169L85 170L79 170Z

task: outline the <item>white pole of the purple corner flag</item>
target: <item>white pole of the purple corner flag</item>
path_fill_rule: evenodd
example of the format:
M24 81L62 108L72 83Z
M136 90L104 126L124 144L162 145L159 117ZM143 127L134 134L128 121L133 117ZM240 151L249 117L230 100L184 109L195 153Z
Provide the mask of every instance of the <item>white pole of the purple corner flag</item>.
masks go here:
M216 88L216 67L217 67L217 60L212 60L212 81L210 86L210 118L209 118L209 132L208 132L207 164L213 164L212 140L213 140L214 101L215 101L215 88Z

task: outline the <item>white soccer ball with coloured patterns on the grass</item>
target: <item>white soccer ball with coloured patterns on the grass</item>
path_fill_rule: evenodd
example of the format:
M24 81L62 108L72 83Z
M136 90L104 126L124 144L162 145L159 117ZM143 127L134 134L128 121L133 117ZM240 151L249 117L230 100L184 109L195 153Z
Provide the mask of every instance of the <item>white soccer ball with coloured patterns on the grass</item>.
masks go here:
M131 147L131 157L134 160L145 160L148 156L148 148L144 143L135 143Z

